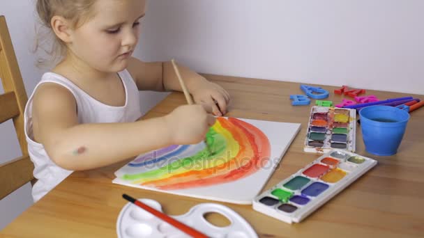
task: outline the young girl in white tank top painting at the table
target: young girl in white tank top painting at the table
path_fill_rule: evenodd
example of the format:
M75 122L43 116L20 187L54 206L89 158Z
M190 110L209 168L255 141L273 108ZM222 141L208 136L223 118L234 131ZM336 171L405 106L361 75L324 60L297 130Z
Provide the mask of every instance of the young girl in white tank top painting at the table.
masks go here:
M34 201L73 170L123 161L172 144L204 139L228 93L179 65L197 105L159 118L141 115L139 90L181 90L169 62L132 58L146 0L38 0L37 11L59 42L62 59L43 75L25 109ZM216 105L218 104L218 106Z

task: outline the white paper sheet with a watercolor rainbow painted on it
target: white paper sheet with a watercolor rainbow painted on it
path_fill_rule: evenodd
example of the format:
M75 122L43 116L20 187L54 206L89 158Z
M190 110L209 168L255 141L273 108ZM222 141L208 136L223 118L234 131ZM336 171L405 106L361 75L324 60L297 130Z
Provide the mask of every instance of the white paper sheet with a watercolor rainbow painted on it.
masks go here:
M256 123L255 126L255 120L249 122L245 119L217 118L206 134L208 147L204 142L195 145L170 145L167 148L141 154L116 171L114 183L185 196L243 203L241 200L245 200L244 198L241 200L231 196L226 198L225 191L220 189L231 187L232 184L236 186L240 182L246 182L250 177L258 177L257 174L262 170L268 172L268 176L271 175L274 167L270 162L278 164L273 158L276 155L272 150L273 144L278 143L272 143L270 136L266 134L266 128L273 128L269 126L260 128L261 125L268 123L291 125L292 138L298 132L298 127L295 126L298 124L256 122L262 123ZM281 156L280 152L278 161ZM261 179L259 173L258 179L261 184L255 181L250 186L259 185L262 188L268 176ZM252 190L249 187L244 189ZM252 198L255 195L257 194L252 195Z

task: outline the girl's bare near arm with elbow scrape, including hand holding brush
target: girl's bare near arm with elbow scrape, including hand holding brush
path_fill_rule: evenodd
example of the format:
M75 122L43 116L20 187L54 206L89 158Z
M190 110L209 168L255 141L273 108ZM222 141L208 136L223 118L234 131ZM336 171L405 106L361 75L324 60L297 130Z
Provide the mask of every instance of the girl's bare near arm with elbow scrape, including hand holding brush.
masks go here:
M128 123L78 124L76 110L72 93L57 84L42 84L33 97L34 138L68 170L114 164L174 143L198 143L214 122L206 113L211 109L200 105Z

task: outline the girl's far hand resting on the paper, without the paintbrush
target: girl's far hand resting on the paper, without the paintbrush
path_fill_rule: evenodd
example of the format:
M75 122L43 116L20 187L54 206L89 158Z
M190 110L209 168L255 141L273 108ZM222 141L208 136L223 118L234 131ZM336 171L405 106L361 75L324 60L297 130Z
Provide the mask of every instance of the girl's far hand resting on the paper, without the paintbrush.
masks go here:
M196 86L190 88L190 93L197 104L211 106L213 115L223 116L227 113L229 93L218 84L203 79Z

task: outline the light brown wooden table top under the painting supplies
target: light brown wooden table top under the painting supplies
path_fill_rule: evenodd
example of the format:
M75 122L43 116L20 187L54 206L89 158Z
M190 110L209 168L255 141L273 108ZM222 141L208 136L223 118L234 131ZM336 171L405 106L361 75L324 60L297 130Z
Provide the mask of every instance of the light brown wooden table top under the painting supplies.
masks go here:
M301 132L283 157L264 189L269 189L310 161L317 154L303 152L310 106L292 106L289 95L302 94L299 84L281 81L205 75L232 95L227 116L301 123ZM341 102L335 87L328 100ZM381 99L404 93L367 90ZM414 95L421 97L423 95ZM312 100L312 103L315 101ZM182 93L172 93L144 118L162 116L185 104ZM379 164L311 214L302 223L289 225L255 212L250 205L225 204L241 214L259 237L423 237L424 235L424 109L411 119L398 154L377 157L365 152L361 129L357 129L356 152L377 159ZM116 237L116 219L128 193L136 198L158 200L167 214L183 214L206 200L172 196L112 184L114 171L123 161L106 168L75 172L38 203L27 209L0 235L11 237ZM211 216L213 223L223 221Z

